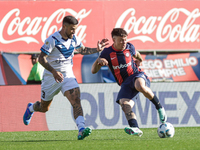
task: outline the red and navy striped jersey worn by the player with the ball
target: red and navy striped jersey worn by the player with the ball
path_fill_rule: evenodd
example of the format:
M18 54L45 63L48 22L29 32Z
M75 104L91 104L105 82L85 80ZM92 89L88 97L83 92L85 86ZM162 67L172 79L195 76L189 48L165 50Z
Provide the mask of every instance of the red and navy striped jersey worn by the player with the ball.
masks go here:
M129 76L141 72L133 60L135 55L135 47L131 43L127 43L124 50L116 50L113 46L104 48L99 57L108 61L115 80L121 85Z

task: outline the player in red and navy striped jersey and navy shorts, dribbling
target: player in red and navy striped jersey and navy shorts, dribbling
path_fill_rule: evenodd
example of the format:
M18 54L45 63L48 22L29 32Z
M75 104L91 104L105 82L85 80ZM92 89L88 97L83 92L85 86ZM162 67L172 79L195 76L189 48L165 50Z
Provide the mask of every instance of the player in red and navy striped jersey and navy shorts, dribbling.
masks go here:
M150 87L150 80L139 68L142 57L135 47L127 42L127 32L122 28L114 28L111 32L113 45L104 48L99 58L92 66L92 73L97 73L101 66L108 65L121 89L116 102L120 104L125 113L130 127L124 130L127 134L142 136L139 129L136 115L132 111L134 101L132 100L139 92L148 98L156 107L162 123L167 120L164 107L154 95Z

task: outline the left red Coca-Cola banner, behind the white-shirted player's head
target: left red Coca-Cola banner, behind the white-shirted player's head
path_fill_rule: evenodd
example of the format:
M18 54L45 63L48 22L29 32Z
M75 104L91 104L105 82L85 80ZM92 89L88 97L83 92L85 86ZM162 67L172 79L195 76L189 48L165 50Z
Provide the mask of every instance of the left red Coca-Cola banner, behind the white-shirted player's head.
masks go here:
M83 44L96 47L104 36L99 12L103 10L98 2L0 2L0 50L39 52L44 40L61 28L66 15L79 20L76 34Z

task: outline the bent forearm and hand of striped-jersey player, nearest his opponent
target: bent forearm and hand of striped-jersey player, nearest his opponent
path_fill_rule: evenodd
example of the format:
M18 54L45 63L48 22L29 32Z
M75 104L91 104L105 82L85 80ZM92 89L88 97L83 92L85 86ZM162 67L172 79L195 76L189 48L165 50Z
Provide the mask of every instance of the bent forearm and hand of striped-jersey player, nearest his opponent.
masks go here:
M100 69L101 66L108 65L108 61L105 58L97 58L96 61L92 65L91 72L93 74L97 73Z

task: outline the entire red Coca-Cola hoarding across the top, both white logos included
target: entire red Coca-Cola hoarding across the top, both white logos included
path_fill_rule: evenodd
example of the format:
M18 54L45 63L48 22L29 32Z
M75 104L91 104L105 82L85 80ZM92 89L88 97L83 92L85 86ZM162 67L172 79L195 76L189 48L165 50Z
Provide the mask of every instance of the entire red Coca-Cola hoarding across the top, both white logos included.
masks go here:
M112 43L111 30L122 27L137 50L199 50L199 6L200 1L2 1L0 51L39 52L66 15L79 20L76 34L88 47L105 37Z

